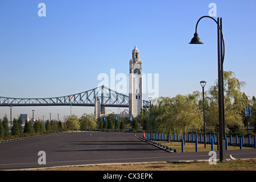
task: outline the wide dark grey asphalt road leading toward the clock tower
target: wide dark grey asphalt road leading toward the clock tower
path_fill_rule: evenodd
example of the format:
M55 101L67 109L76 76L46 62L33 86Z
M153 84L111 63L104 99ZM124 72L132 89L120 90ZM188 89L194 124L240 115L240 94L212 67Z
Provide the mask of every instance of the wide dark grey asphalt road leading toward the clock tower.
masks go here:
M208 152L166 152L139 140L138 137L142 137L142 134L136 135L121 132L56 133L0 143L0 170L209 159ZM46 152L46 164L38 164L39 151ZM255 149L226 151L227 158L229 154L237 159L256 158Z

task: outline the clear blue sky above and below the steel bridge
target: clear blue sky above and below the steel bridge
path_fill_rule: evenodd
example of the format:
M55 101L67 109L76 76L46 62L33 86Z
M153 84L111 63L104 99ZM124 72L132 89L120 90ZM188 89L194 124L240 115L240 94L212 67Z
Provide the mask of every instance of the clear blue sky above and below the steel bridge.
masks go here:
M46 16L39 16L46 5ZM0 96L46 98L96 88L101 73L129 73L135 44L144 75L159 74L159 96L205 90L217 79L217 28L202 19L197 32L203 45L188 44L197 20L216 4L225 37L224 71L233 71L256 96L255 0L1 0ZM127 77L128 78L128 77ZM147 98L143 98L146 100ZM70 114L70 107L14 107L42 119ZM72 107L81 116L93 107ZM0 107L0 118L10 117Z

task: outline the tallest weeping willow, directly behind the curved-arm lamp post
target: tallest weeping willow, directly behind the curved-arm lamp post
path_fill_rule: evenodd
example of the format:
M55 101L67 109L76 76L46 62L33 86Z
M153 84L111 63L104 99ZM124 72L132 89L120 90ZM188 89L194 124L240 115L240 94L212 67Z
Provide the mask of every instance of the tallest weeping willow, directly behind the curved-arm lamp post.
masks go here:
M239 81L232 71L224 71L223 81L225 133L228 133L234 127L243 127L242 112L247 100L241 89L246 85L246 82ZM218 80L209 88L208 95L209 109L206 111L208 125L215 126L218 131Z

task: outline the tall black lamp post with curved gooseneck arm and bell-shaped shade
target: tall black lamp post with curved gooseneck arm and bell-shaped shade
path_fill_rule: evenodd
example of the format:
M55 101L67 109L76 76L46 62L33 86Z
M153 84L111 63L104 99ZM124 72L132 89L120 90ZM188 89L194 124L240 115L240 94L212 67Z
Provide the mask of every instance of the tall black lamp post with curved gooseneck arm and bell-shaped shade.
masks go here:
M197 24L202 18L210 18L217 23L217 43L218 43L218 117L219 117L219 146L220 146L220 161L225 162L225 120L224 120L224 85L223 85L223 63L225 56L225 44L222 34L222 18L216 19L211 16L202 16L196 23L196 32L189 44L203 44L197 34ZM223 46L223 47L222 47Z

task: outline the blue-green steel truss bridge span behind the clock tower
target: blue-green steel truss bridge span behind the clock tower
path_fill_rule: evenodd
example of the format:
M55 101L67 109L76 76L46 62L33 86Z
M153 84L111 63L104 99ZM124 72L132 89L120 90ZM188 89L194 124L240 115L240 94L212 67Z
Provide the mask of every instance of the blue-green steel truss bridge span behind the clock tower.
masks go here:
M95 106L96 100L101 101L104 107L129 107L129 96L115 92L106 86L71 94L63 97L51 98L9 98L0 97L0 106ZM149 106L149 102L143 100L143 107Z

